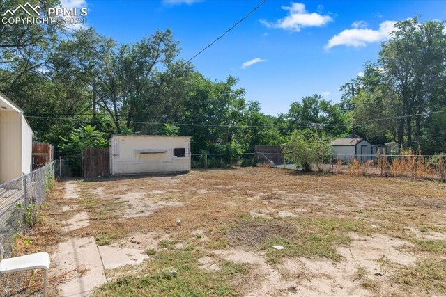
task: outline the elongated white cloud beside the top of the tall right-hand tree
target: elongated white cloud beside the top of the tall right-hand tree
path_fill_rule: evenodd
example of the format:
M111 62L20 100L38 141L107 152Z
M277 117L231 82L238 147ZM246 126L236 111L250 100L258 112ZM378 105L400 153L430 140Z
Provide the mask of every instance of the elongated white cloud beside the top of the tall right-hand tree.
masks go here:
M394 31L394 25L396 23L397 22L394 21L384 21L379 25L378 30L367 28L346 29L328 40L325 49L331 49L338 45L346 45L347 47L365 47L371 42L383 41L387 39L390 32Z

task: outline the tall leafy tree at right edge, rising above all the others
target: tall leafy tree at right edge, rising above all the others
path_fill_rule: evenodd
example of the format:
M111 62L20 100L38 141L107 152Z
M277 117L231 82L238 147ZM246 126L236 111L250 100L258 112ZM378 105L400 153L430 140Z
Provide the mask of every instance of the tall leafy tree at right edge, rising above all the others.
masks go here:
M395 25L390 39L383 42L379 63L384 70L385 82L397 96L404 115L425 113L438 102L444 101L446 35L443 22L420 23L417 17ZM401 120L399 141L413 145L415 136L422 132L422 115L407 116Z

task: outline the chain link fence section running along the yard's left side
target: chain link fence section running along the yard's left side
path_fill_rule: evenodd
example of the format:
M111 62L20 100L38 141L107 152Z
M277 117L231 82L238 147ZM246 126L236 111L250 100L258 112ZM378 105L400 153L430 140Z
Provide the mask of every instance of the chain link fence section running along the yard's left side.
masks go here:
M45 202L54 181L55 161L27 175L0 184L0 243L10 257L17 234L33 226L36 208Z

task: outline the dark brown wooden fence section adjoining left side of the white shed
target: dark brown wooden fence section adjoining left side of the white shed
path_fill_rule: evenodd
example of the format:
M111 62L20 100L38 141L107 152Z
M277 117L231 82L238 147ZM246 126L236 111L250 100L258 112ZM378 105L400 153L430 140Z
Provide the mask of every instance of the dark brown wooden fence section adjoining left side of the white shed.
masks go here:
M82 158L82 177L107 177L109 175L109 147L87 147Z

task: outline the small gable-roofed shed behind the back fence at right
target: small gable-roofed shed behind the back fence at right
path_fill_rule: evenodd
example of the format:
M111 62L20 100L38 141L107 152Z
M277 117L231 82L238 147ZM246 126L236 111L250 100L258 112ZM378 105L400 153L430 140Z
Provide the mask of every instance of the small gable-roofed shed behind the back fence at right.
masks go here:
M338 138L332 141L333 155L342 161L364 162L371 160L371 144L365 138Z

